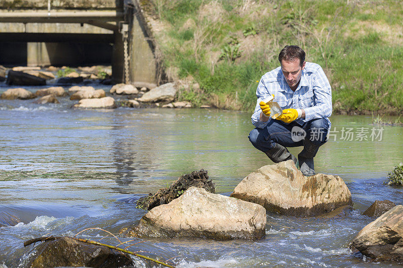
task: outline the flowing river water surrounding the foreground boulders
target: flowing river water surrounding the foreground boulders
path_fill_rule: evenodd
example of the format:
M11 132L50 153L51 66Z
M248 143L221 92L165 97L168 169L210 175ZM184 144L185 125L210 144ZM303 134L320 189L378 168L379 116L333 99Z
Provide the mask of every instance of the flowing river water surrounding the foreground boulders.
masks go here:
M32 245L24 248L27 239L75 235L86 228L117 233L136 224L146 213L135 208L136 199L183 173L204 168L216 192L230 195L247 174L271 163L249 143L248 113L74 110L75 102L59 100L61 104L47 105L0 101L0 223L7 224L10 216L21 221L0 227L0 267L24 263L33 251ZM362 213L375 200L402 204L402 190L382 182L402 161L403 128L370 125L368 116L330 119L332 136L315 157L315 168L344 178L354 210L335 217L268 214L266 236L258 241L145 239L132 250L172 258L178 267L398 266L371 262L348 245L374 220ZM296 155L301 149L290 151ZM101 230L80 234L96 240L105 235ZM112 238L102 241L118 244Z

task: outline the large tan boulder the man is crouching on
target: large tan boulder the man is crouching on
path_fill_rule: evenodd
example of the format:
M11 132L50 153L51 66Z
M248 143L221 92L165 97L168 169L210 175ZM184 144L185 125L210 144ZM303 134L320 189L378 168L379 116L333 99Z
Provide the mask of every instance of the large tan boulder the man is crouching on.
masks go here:
M247 175L232 197L262 205L267 211L315 216L352 205L351 193L339 176L304 176L292 160L265 165Z

